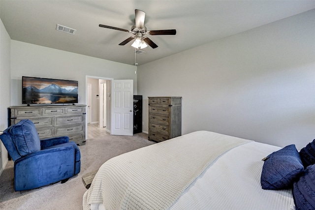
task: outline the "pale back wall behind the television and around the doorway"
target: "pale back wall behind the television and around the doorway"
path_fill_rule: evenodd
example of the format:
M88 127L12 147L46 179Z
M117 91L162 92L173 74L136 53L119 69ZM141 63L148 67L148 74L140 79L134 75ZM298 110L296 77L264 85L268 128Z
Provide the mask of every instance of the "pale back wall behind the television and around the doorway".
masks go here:
M11 105L22 104L22 76L78 80L79 104L86 104L86 75L131 79L137 90L133 65L11 40Z

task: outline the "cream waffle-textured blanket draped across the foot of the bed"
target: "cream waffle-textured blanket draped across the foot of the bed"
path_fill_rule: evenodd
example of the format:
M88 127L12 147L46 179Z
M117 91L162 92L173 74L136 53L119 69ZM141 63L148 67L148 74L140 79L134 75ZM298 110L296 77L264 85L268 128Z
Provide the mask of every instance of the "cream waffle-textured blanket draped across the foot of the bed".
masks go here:
M218 157L249 142L197 131L119 155L100 167L84 194L83 208L169 209Z

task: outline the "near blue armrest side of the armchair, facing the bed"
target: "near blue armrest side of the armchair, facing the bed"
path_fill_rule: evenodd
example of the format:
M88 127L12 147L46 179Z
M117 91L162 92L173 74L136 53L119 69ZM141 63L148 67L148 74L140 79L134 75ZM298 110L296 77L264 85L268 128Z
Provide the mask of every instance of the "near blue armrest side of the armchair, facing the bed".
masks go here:
M74 148L65 146L33 152L14 162L16 191L33 189L74 175Z

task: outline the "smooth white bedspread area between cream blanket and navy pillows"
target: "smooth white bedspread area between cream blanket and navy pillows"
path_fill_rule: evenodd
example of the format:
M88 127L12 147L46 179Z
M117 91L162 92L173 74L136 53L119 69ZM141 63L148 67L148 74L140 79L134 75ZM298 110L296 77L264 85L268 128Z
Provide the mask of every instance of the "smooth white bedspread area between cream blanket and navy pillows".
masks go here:
M229 150L170 210L295 210L292 189L264 190L261 159L281 148L251 142Z

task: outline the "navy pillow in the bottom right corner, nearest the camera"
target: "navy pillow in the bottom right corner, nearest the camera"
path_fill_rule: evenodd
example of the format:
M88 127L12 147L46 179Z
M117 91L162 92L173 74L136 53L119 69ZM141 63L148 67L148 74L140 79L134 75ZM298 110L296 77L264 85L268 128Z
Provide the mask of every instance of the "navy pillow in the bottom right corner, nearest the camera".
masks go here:
M293 198L296 210L315 209L315 165L307 167L293 183Z

